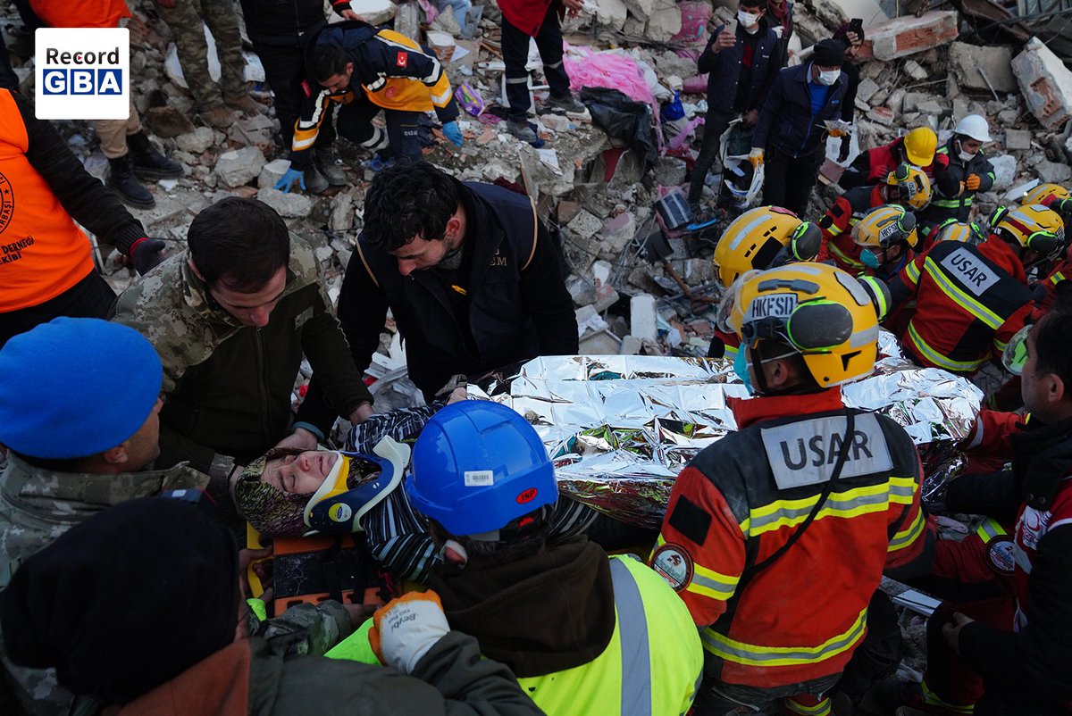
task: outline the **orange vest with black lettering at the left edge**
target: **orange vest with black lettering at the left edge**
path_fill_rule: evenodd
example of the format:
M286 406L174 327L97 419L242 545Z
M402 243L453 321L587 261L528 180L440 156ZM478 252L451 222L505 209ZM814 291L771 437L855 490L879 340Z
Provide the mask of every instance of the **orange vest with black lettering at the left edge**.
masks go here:
M0 91L0 312L44 303L93 270L89 239L26 158L18 106Z

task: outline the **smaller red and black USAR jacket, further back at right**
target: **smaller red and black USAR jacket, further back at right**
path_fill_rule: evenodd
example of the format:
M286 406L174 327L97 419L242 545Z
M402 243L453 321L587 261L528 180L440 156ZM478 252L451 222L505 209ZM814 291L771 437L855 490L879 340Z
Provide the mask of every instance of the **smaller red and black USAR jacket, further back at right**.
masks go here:
M970 375L1024 327L1034 310L1024 266L991 235L973 247L941 241L890 281L892 304L915 297L900 343L915 361Z

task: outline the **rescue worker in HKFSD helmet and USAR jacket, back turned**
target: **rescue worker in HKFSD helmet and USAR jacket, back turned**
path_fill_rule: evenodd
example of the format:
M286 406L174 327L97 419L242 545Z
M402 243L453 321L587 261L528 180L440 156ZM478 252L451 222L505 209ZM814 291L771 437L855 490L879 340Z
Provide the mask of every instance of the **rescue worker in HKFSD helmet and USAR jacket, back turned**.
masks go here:
M842 402L875 366L877 285L793 264L728 297L734 370L758 397L728 400L739 430L678 476L651 557L702 629L703 713L829 713L883 570L927 561L912 439Z

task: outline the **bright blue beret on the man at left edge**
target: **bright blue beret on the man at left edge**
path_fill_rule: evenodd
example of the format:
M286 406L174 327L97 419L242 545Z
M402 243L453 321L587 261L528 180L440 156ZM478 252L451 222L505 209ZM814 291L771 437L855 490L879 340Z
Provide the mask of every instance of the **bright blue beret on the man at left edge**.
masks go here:
M32 458L86 458L136 433L164 371L133 328L56 318L0 349L0 444Z

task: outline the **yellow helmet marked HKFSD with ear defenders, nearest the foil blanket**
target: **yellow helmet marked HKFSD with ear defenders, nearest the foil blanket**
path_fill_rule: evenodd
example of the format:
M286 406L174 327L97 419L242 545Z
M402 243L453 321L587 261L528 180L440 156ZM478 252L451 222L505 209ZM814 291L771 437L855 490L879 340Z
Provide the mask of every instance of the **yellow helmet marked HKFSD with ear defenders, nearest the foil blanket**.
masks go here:
M838 386L875 369L876 286L884 289L880 282L865 286L827 264L753 272L741 283L729 323L742 347L780 341L803 356L816 385Z

